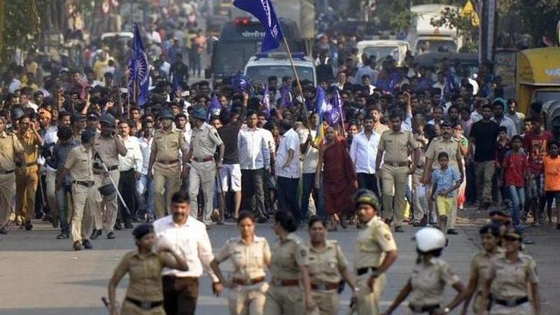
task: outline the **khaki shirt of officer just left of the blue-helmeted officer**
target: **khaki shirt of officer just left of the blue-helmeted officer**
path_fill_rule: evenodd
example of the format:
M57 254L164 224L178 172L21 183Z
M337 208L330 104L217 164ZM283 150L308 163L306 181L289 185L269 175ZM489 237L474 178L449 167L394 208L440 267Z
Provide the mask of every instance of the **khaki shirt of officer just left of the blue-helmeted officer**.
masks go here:
M155 153L155 161L172 162L179 160L180 151L187 151L183 132L172 128L169 132L156 130L153 135L151 151Z

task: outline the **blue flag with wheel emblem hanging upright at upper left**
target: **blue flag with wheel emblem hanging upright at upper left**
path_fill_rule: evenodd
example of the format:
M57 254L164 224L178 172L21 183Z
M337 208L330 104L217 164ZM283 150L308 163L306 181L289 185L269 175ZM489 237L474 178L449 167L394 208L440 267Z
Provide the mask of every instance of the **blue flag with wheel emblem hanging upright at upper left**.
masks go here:
M140 36L138 25L134 25L134 43L128 60L128 92L136 97L139 90L138 105L144 106L148 102L148 87L150 85L150 65L144 51L144 44Z

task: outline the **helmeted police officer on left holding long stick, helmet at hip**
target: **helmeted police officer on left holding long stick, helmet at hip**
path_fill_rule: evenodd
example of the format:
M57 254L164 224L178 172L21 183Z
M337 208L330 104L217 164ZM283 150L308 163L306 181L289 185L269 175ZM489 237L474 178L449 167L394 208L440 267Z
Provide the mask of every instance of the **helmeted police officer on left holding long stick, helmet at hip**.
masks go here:
M114 239L114 227L118 215L118 198L116 187L111 182L112 177L118 183L118 155L126 156L127 148L123 138L115 132L115 118L105 113L99 120L101 132L93 141L95 188L97 188L97 202L94 203L95 230L92 239L96 239L105 229L108 239ZM106 170L103 166L106 167ZM109 172L109 173L107 173Z

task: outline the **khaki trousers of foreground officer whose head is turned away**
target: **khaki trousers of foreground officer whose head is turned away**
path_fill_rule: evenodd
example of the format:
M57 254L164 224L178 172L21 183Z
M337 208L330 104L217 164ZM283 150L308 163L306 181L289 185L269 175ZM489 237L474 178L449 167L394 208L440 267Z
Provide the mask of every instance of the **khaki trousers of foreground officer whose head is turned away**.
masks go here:
M265 301L266 315L305 315L303 290L299 286L270 286Z

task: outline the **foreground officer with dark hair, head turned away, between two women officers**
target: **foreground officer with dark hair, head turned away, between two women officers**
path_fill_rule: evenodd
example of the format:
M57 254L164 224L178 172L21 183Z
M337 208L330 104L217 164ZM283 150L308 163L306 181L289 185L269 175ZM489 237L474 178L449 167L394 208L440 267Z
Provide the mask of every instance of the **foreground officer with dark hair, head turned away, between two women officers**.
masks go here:
M315 308L309 280L309 249L294 233L297 221L291 211L278 211L274 219L274 233L278 239L271 246L272 280L266 295L265 314L307 314Z

